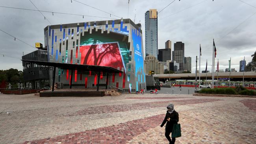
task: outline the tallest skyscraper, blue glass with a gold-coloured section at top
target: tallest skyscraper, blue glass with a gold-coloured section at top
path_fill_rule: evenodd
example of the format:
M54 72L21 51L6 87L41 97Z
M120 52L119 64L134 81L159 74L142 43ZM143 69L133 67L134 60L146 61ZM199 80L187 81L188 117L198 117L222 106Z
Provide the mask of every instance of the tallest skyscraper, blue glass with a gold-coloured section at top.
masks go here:
M145 13L145 49L146 55L158 57L158 19L157 10L150 9Z

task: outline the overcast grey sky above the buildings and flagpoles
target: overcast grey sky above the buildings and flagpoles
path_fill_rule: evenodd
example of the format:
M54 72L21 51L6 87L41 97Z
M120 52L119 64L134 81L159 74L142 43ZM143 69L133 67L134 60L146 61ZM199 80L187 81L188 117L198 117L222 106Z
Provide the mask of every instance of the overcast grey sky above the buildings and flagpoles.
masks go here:
M74 0L31 0L41 11L73 13L97 17L63 15L42 12L52 25L98 20L130 18L141 23L145 52L145 12L149 9L161 11L173 0L78 0L113 15ZM247 3L243 3L243 2ZM192 57L192 73L195 73L195 57L199 57L199 44L202 48L201 70L211 71L213 38L217 48L219 69L239 70L239 61L245 56L246 63L252 60L256 51L256 0L175 0L158 13L158 49L165 48L165 41L185 43L185 57ZM30 0L0 0L0 6L36 9ZM249 6L250 4L251 6ZM0 30L32 46L35 42L44 44L44 28L51 25L39 11L27 11L0 7ZM136 16L135 16L136 15ZM109 17L109 18L98 18ZM23 42L0 31L0 69L17 68L22 70L22 52L28 54L36 50ZM5 56L3 57L4 54ZM199 60L198 60L199 62ZM199 69L199 63L198 63Z

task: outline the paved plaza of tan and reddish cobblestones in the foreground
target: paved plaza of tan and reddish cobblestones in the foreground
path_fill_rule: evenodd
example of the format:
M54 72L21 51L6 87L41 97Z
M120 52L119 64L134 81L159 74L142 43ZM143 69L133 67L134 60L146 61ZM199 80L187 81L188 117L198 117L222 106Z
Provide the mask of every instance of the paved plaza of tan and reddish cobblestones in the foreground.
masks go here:
M168 144L160 124L179 113L177 144L255 144L256 98L191 94L47 97L0 94L0 144Z

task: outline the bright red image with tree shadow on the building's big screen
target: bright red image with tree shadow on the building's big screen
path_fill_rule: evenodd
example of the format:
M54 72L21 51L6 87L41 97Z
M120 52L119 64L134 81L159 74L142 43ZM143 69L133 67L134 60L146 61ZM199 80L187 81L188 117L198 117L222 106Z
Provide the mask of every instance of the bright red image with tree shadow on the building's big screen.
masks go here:
M120 70L124 67L119 46L116 42L80 46L80 53L82 65L119 67Z

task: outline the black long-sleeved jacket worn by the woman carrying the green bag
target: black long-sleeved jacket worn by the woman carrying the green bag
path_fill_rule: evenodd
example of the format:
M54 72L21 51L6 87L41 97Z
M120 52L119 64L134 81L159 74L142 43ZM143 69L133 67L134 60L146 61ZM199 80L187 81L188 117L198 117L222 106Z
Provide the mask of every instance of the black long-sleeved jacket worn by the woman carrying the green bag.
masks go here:
M170 122L167 121L167 118L171 118ZM177 124L179 121L179 114L174 110L173 113L166 113L165 115L165 119L163 120L161 127L163 127L163 125L165 125L165 123L167 122L166 126L165 126L165 130L169 130L169 131L173 131L173 124Z

